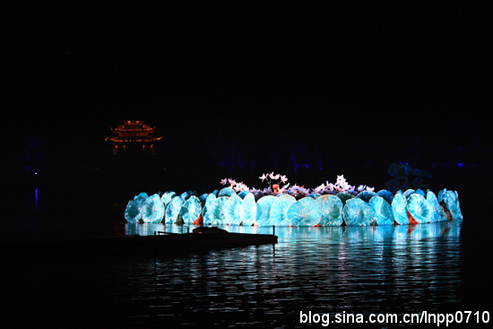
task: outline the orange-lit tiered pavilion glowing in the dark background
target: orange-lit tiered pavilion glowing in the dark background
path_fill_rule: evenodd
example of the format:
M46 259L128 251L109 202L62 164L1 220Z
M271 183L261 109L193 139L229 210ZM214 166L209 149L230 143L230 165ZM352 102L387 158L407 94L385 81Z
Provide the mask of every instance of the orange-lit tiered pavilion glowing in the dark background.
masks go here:
M156 127L144 125L143 121L124 121L123 125L113 129L109 127L116 137L109 138L115 145L115 152L125 152L127 149L140 149L143 151L153 152L154 143L160 141L162 137L152 137Z

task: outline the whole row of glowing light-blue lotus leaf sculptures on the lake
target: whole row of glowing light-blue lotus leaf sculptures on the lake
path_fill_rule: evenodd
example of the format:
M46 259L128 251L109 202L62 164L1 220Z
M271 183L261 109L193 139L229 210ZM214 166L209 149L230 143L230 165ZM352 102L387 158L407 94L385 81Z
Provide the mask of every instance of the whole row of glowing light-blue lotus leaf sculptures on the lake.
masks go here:
M394 168L397 171L391 169L404 175L406 168L406 165L398 165ZM195 191L181 195L169 191L161 197L146 197L143 192L127 203L125 220L189 225L198 222L202 215L203 225L338 226L344 221L350 226L389 225L394 222L407 225L446 221L448 211L449 220L463 219L456 191L443 189L437 197L427 190L425 198L421 189L398 191L395 195L387 190L378 193L366 190L355 197L353 186L342 186L343 191L348 188L350 193L341 192L335 196L312 194L298 201L293 195L305 195L307 190L304 188L298 188L298 192L288 189L277 196L264 195L272 193L271 190L263 192L255 188L253 193L244 190L237 195L230 187L200 197L195 196ZM332 187L325 190L317 187L316 190L333 192ZM445 203L446 213L440 201Z

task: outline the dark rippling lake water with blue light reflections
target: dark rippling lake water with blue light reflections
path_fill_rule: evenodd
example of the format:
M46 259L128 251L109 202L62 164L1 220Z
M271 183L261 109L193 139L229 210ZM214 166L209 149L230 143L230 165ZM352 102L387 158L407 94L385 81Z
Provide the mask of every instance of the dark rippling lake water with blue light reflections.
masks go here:
M410 227L276 228L276 245L171 259L163 253L6 263L0 311L5 327L60 328L324 327L325 314L329 327L357 328L363 325L350 322L368 321L372 314L403 321L423 311L460 319L459 311L459 327L475 328L478 320L493 316L490 235L468 224L463 212L463 222ZM74 230L75 237L186 231L175 225L125 225L119 220L123 212L114 214L94 215L108 216L102 224L88 212L25 212L18 226L28 237L21 242L66 238ZM77 224L64 227L64 220ZM62 229L48 229L52 225L46 221ZM225 229L272 233L272 228ZM465 311L472 312L468 324Z

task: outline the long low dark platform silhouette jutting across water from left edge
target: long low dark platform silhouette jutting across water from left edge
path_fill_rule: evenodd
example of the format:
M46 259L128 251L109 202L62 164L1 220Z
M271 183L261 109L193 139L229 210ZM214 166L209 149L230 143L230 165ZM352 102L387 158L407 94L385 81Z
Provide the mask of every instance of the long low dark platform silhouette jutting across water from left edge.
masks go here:
M179 255L203 253L229 247L247 247L276 244L273 234L229 232L168 233L155 232L153 236L125 236L86 238L46 243L7 245L0 247L4 261L33 261L56 257L99 257L153 255L172 258Z

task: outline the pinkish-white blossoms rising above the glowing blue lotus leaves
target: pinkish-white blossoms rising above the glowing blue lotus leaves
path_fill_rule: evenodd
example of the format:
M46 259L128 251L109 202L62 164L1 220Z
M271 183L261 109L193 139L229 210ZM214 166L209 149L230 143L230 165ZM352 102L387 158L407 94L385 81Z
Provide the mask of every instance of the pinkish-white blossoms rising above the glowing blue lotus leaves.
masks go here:
M263 174L261 177L262 181L267 180L267 183L269 183L269 186L264 188L264 189L256 189L255 187L249 188L246 184L242 182L237 182L233 178L224 178L221 179L221 185L227 185L229 184L229 188L233 189L235 192L239 193L242 191L248 191L253 193L254 195L257 194L263 194L263 195L281 195L283 193L287 193L289 195L293 196L304 196L304 195L310 195L310 194L318 194L318 195L326 195L326 194L338 194L341 192L347 192L350 193L351 195L357 195L359 192L362 191L375 191L375 187L369 187L366 185L360 185L358 188L355 188L355 186L351 186L347 181L346 178L344 178L344 175L337 176L337 180L335 184L329 183L328 181L325 182L325 184L322 184L320 186L316 186L313 189L310 188L305 188L305 186L298 186L298 185L293 185L290 186L290 183L286 184L288 181L288 178L285 175L281 174ZM273 185L276 183L272 184L272 180L277 181L276 187L278 188L273 188ZM281 184L284 184L281 186Z

